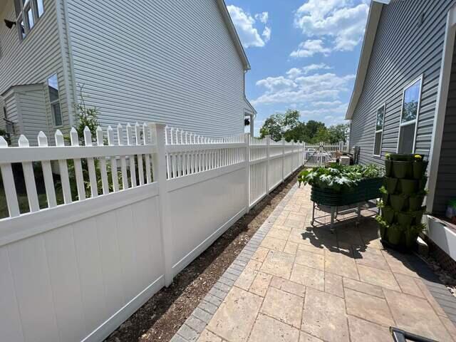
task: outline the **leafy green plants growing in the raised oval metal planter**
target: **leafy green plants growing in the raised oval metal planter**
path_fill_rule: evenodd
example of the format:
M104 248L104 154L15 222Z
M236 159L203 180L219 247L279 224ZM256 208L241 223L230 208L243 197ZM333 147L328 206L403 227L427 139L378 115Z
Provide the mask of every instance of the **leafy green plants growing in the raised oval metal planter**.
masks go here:
M315 167L302 171L298 176L299 186L310 184L322 189L331 189L336 192L349 190L358 185L364 178L383 177L383 169L377 165L344 166L337 163L329 167Z

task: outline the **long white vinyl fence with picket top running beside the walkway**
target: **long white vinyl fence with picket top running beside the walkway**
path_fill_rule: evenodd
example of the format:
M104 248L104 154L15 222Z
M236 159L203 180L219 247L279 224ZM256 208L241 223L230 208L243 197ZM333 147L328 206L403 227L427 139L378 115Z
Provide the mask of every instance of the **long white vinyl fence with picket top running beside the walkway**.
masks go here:
M303 144L161 124L70 136L0 137L1 341L102 341L304 162Z

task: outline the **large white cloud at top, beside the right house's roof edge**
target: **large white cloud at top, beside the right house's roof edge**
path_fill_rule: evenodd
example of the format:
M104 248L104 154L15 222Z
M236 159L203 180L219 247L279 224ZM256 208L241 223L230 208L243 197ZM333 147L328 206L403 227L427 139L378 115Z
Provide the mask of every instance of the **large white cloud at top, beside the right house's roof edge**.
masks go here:
M294 24L307 37L331 38L333 50L351 51L363 38L368 11L366 0L361 4L353 0L309 0L296 11ZM301 56L306 57L306 53L296 53L296 57Z

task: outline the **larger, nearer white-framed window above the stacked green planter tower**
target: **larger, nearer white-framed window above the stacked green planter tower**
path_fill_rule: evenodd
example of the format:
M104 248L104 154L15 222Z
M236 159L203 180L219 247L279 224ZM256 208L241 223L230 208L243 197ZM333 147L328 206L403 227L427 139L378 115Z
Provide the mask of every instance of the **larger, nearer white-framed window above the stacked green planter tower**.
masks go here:
M398 153L415 152L415 138L420 110L422 78L404 89L399 123Z

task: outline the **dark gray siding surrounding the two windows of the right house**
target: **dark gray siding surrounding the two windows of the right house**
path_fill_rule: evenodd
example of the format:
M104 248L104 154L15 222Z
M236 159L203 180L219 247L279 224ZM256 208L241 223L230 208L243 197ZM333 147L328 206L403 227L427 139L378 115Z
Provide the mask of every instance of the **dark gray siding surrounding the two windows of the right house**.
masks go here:
M351 121L351 146L360 146L362 163L373 157L376 110L386 104L382 157L396 152L403 88L423 75L415 152L427 155L447 11L455 0L394 1L383 6L363 92ZM421 14L425 14L419 25Z

